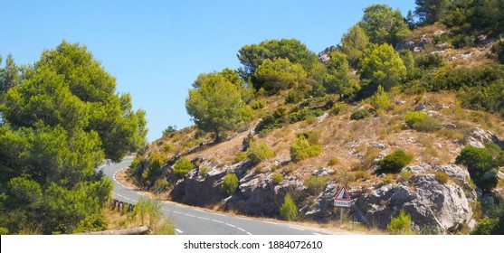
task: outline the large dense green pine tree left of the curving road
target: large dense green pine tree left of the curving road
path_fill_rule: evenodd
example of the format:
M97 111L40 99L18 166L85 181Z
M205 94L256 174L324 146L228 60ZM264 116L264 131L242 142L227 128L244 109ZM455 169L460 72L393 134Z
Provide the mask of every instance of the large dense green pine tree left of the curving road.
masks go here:
M101 215L113 183L96 173L145 145L145 112L85 46L62 42L21 73L9 56L0 103L0 226L71 233ZM9 73L9 74L6 74Z

